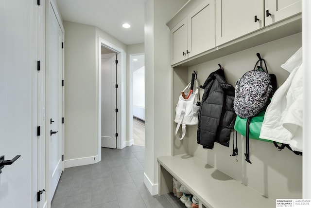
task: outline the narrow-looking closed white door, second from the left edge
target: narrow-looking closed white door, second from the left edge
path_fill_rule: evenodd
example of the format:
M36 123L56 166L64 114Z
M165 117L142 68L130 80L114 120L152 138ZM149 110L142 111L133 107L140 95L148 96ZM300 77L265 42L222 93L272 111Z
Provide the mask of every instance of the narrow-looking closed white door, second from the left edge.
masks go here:
M49 5L47 38L47 137L49 138L49 193L54 195L63 169L62 152L62 66L63 32L57 21L52 5Z

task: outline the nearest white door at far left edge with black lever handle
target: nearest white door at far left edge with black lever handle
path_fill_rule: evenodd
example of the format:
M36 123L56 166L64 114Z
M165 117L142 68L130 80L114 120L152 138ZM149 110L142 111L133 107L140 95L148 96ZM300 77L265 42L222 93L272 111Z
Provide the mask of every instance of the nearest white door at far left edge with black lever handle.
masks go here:
M37 207L39 8L36 1L0 1L0 156L20 155L1 169L1 208Z

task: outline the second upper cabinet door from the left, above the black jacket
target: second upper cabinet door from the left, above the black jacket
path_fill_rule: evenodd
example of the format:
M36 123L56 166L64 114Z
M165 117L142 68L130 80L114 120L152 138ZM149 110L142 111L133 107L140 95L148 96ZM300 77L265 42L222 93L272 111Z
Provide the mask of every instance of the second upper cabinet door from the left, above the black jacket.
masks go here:
M205 0L188 16L189 57L213 47L215 47L215 2Z

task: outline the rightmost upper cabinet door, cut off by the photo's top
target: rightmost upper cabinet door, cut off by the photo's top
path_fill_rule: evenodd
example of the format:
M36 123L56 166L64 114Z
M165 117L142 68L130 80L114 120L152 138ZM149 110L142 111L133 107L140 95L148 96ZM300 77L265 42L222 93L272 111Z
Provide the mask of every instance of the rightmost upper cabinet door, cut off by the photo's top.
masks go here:
M265 0L266 26L300 13L301 0Z

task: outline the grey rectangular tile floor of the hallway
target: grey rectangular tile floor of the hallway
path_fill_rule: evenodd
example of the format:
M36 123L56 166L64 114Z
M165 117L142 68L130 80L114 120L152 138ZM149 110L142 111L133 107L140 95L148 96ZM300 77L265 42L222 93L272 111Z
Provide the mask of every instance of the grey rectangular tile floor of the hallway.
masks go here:
M144 147L138 145L102 148L101 162L64 170L52 208L185 208L172 193L150 194L143 158Z

